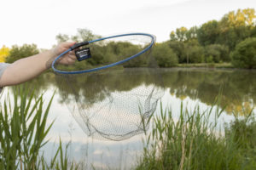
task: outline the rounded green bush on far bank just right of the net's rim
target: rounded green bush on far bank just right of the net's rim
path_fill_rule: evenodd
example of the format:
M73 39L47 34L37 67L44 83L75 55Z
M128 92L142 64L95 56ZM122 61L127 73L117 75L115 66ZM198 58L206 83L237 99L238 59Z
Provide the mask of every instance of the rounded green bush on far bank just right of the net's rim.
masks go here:
M177 55L172 51L172 48L169 48L167 43L156 44L152 53L160 67L177 65Z

